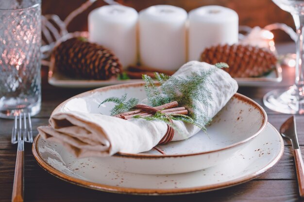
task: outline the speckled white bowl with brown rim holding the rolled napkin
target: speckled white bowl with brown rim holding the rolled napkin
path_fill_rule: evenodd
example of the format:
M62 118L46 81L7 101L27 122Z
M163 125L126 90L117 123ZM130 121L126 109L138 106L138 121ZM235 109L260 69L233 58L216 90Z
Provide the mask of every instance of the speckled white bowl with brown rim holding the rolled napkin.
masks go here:
M143 85L143 82L122 84L81 93L61 103L52 113L72 110L109 115L114 103L108 102L100 106L104 99L127 93L130 98L142 100L146 98ZM96 161L115 170L142 174L198 171L214 166L246 147L266 124L265 110L250 98L236 93L213 117L212 123L206 127L207 134L200 131L187 140L158 145L158 150L165 154L152 149L139 154L118 153L97 158Z

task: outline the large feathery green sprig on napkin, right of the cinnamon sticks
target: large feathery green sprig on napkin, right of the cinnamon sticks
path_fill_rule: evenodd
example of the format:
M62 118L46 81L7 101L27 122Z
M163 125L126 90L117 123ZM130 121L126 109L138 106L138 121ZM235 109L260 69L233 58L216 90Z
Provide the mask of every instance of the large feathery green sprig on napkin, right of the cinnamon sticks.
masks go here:
M148 105L156 107L177 101L180 106L188 109L189 116L175 116L172 120L195 124L205 131L205 125L211 121L211 118L197 106L197 103L212 106L211 92L207 88L206 82L214 71L216 69L193 72L184 78L155 73L155 78L160 83L159 87L155 86L151 77L143 75Z

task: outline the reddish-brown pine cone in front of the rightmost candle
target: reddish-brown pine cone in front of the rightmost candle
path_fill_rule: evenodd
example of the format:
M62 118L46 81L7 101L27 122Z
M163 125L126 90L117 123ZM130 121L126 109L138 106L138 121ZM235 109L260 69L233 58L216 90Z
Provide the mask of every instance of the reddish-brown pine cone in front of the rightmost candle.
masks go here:
M261 77L275 68L277 59L270 51L253 46L218 45L206 48L201 61L210 64L226 62L224 68L234 78Z

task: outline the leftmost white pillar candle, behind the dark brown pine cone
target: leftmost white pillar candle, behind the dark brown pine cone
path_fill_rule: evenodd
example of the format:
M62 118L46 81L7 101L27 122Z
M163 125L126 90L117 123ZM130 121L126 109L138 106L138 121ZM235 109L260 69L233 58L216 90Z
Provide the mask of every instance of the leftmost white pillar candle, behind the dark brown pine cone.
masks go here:
M97 8L88 16L89 41L112 50L124 68L135 65L137 20L137 11L127 6Z

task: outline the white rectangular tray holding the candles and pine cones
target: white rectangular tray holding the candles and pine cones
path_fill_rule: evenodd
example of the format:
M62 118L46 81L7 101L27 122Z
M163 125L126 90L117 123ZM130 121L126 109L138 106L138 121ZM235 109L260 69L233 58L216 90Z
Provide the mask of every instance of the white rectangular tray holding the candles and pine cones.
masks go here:
M274 71L269 75L264 77L256 78L235 78L239 86L265 86L265 85L275 85L282 81L282 68L280 65L277 65ZM58 71L55 71L54 68L50 68L49 71L49 84L57 87L63 88L98 88L103 86L110 86L123 83L134 83L142 81L142 79L127 79L127 80L89 80L89 79L77 79L69 78Z

